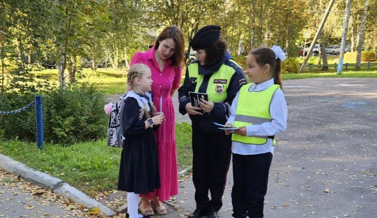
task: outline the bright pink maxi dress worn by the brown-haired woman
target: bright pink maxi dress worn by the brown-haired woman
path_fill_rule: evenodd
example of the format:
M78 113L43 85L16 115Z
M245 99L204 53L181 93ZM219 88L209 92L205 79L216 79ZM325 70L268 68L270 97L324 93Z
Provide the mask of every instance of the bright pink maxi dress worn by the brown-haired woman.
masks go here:
M174 66L171 63L171 59L168 59L161 72L154 57L154 47L149 51L137 52L131 60L131 65L134 63L144 63L151 69L153 80L152 94L154 96L153 103L157 111L160 111L160 98L162 96L162 112L166 120L154 133L157 145L161 188L150 192L148 198L152 199L154 196L158 196L159 200L164 202L169 200L170 196L178 194L175 115L170 93L171 90L179 88L182 78L182 66Z

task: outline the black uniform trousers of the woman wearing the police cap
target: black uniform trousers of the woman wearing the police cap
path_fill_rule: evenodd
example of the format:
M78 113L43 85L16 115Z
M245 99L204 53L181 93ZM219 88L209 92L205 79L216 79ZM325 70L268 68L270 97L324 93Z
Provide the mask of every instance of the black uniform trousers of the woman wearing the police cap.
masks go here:
M231 135L224 132L203 134L192 128L192 181L196 209L219 211L231 157ZM211 200L208 198L211 192Z

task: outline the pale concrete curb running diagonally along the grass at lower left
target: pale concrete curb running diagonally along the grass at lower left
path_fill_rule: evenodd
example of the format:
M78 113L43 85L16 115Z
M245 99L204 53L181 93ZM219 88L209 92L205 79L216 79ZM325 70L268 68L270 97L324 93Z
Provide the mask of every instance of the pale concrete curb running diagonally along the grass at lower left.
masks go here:
M17 176L21 176L36 186L51 189L52 192L66 197L73 202L83 204L87 208L98 207L103 215L111 217L117 214L115 211L90 198L77 188L69 186L69 184L65 183L63 180L52 177L44 172L34 171L24 164L1 154L0 168Z

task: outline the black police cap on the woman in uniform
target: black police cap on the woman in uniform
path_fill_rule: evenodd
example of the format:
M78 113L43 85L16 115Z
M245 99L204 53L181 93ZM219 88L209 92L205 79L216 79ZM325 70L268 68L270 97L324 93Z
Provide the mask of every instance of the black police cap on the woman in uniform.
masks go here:
M220 39L220 26L210 25L200 29L190 41L194 50L203 49Z

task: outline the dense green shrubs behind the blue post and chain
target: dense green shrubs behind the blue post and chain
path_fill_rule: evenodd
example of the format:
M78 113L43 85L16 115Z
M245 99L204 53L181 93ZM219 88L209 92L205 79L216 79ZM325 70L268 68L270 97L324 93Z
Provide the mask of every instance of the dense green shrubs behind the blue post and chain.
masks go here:
M34 100L34 93L3 93L0 110L18 109ZM103 112L103 93L87 84L74 84L62 91L53 88L42 93L44 140L71 144L96 140L106 133L107 116ZM35 109L13 115L0 115L0 129L4 138L18 137L35 141Z

